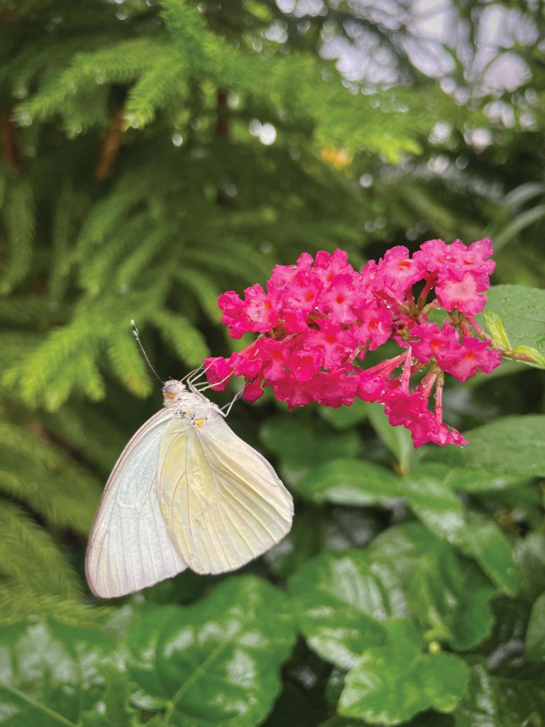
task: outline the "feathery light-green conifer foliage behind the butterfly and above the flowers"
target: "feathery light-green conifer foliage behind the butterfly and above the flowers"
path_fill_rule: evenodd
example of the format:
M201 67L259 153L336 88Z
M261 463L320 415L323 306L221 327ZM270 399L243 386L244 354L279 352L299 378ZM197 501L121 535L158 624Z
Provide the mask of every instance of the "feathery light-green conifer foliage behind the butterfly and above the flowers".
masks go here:
M236 345L219 293L275 263L339 246L359 264L407 230L477 238L505 209L497 164L464 145L480 112L411 68L394 31L331 5L301 25L268 0L0 3L0 619L103 617L84 605L85 539L158 406L131 319L181 376ZM320 33L349 25L399 53L403 84L320 56ZM471 168L434 174L438 155ZM526 217L509 239L536 200L512 199Z

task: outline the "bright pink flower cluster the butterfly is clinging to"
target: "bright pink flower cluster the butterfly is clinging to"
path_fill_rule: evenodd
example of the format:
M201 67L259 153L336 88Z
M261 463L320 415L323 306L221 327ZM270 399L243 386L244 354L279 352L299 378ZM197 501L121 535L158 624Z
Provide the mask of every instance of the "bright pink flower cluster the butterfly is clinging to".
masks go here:
M393 247L361 272L342 250L276 265L266 290L253 285L243 299L233 291L219 296L231 336L259 336L230 358L207 358L209 382L222 390L241 376L247 401L269 386L290 409L311 401L350 405L355 397L379 401L392 425L411 430L415 447L463 444L443 423L443 372L465 381L501 362L474 319L485 306L492 253L488 239L469 246L430 240L412 257L406 247ZM435 309L445 311L442 325L429 321ZM363 368L367 351L388 340L406 353Z

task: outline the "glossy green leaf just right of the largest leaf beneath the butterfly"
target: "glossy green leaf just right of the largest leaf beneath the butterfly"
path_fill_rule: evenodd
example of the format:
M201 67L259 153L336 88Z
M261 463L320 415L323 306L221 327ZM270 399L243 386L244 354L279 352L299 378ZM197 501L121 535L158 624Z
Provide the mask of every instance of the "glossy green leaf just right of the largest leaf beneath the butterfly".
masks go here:
M288 590L310 648L344 669L383 642L382 622L407 615L392 567L362 550L320 553L291 576Z

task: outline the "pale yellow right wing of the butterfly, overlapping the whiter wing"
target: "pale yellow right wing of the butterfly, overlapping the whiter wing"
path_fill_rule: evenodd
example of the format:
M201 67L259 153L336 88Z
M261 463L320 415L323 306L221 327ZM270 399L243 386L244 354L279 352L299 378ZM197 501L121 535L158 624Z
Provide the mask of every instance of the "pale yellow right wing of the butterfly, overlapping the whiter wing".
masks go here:
M166 528L197 573L240 568L291 529L291 494L259 452L212 408L181 435L174 422L161 443L159 499Z

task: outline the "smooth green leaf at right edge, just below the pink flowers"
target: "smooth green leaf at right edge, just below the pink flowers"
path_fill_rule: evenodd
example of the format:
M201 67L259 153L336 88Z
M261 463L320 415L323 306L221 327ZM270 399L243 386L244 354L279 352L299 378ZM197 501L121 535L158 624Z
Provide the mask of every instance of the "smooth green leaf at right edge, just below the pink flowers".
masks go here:
M501 417L465 433L469 467L520 477L545 476L545 415Z

